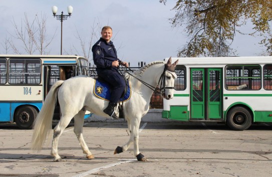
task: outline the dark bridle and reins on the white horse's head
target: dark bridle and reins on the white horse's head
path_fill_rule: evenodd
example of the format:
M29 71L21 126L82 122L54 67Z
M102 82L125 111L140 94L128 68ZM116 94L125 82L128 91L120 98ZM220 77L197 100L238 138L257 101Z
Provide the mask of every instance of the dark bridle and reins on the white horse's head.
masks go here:
M132 71L129 67L128 68L130 71ZM163 72L161 73L158 85L160 85L160 88L158 87L154 87L153 85L150 85L149 83L146 83L145 81L135 77L134 75L132 75L131 73L127 72L125 69L125 74L128 73L129 75L133 76L134 78L136 78L137 80L139 80L140 82L142 82L144 85L146 85L148 88L152 89L155 93L157 94L163 94L165 93L165 89L174 89L173 86L165 86L165 72L166 70L169 70L170 72L175 72L174 70L171 70L167 67L167 64L165 64Z

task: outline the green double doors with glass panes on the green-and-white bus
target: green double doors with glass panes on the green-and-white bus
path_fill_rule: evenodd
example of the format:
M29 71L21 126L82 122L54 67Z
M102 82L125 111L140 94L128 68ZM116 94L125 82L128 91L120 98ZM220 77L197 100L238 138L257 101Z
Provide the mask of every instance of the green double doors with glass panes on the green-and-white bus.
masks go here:
M222 119L222 68L191 68L190 120Z

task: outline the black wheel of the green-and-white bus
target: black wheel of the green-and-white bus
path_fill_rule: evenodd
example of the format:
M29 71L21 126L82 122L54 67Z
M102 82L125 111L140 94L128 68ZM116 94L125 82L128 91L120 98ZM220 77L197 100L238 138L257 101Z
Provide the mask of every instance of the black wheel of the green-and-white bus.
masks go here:
M251 113L244 107L234 107L227 114L226 123L233 130L247 129L251 122Z

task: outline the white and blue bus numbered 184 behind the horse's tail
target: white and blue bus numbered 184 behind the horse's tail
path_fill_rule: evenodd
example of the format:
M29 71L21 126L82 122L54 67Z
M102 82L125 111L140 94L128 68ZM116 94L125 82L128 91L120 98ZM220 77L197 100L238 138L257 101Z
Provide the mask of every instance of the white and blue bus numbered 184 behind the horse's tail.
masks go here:
M0 122L32 128L51 86L88 75L87 61L76 55L0 55ZM86 112L85 118L90 115ZM58 103L53 119L60 119Z

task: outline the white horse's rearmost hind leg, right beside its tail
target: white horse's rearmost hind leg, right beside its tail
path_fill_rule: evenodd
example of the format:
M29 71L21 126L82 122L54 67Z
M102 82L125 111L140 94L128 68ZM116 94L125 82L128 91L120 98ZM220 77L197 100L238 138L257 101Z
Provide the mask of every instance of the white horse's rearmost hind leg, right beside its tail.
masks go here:
M62 161L61 156L58 154L58 142L59 137L62 135L63 130L68 126L73 116L61 116L59 123L54 128L52 150L51 155L54 157L54 161Z

